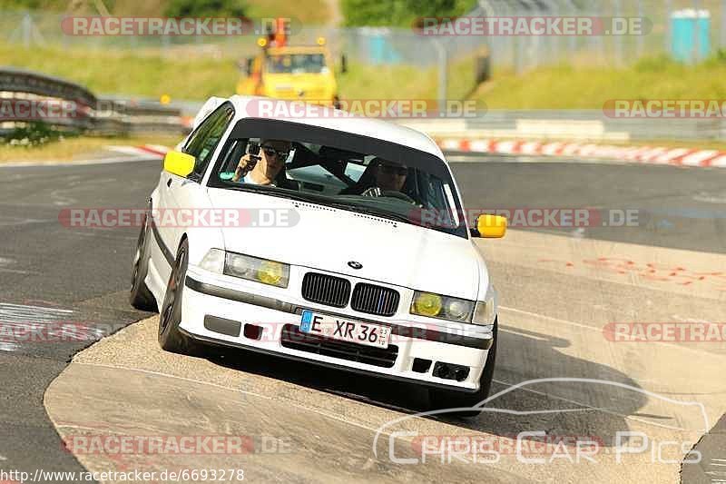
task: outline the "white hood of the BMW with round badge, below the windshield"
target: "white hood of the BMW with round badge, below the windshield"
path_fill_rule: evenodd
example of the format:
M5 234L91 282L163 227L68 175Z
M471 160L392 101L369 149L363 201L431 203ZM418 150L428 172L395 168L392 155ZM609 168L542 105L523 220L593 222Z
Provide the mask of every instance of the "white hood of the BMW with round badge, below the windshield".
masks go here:
M480 256L456 235L307 202L211 189L214 208L289 222L222 228L225 249L293 265L475 300ZM273 216L274 214L274 216ZM260 226L265 225L265 226ZM362 264L353 269L348 262ZM486 273L482 268L482 273ZM486 282L486 281L485 281Z

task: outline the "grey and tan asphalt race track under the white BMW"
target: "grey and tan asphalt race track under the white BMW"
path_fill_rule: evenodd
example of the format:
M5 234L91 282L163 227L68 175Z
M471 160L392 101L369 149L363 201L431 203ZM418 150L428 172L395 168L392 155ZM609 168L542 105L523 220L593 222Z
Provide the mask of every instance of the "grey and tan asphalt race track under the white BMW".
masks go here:
M240 351L209 359L162 353L153 315L127 301L138 230L71 229L58 221L64 208L144 207L160 163L0 166L0 321L72 321L86 335L83 341L0 339L0 469L32 475L83 467L236 467L251 481L299 482L677 482L678 461L726 411L726 344L617 342L603 328L726 322L726 171L453 160L469 209L630 210L637 222L515 227L504 240L478 242L502 305L492 390L501 396L492 404L510 411L476 420L404 419L375 443L380 426L426 409L422 390ZM78 351L119 330L69 366ZM552 378L579 380L532 382ZM530 383L513 388L522 382ZM74 457L58 432L81 430L264 435L278 446L232 457ZM416 458L419 448L410 437L389 439L400 430L487 436L500 447L517 432L545 430L590 436L603 449L595 461L552 459L547 452L528 456L544 462L523 461L503 451L496 462L401 464L389 458L391 441L398 457ZM622 431L659 444L623 457L613 445ZM682 447L668 443L674 441ZM281 442L285 451L275 451ZM698 466L683 471L686 480L708 482L713 474L707 473L726 463L723 440L716 442L701 443L708 449Z

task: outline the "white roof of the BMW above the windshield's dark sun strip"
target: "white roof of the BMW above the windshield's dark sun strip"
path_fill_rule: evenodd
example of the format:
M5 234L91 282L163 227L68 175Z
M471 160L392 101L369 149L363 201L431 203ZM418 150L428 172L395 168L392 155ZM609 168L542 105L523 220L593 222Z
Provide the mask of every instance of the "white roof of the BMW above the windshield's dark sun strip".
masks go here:
M289 121L291 123L308 124L309 126L360 134L361 136L368 136L370 138L376 138L390 143L402 144L425 153L431 153L446 163L444 154L441 153L441 149L438 147L437 143L434 143L427 134L421 133L415 129L363 116L351 116L349 114L348 116L344 116L342 111L325 106L315 106L316 112L323 113L323 115L320 116L299 116L280 119L279 117L271 115L260 115L259 109L256 107L259 106L259 104L256 103L260 100L273 102L275 104L283 104L281 106L282 108L292 106L293 104L299 107L299 101L291 102L260 96L233 95L229 101L235 108L235 122L248 117L276 119L282 122ZM249 112L248 108L250 108ZM317 111L318 109L320 111ZM290 111L284 112L288 113ZM294 113L294 111L292 112Z

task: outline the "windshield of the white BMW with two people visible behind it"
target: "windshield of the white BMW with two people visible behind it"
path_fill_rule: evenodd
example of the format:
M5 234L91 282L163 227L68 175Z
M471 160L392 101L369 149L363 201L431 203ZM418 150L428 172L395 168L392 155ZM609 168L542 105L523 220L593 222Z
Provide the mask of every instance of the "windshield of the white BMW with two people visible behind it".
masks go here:
M466 224L457 216L456 189L441 159L365 136L298 123L242 120L225 144L209 184L467 237Z

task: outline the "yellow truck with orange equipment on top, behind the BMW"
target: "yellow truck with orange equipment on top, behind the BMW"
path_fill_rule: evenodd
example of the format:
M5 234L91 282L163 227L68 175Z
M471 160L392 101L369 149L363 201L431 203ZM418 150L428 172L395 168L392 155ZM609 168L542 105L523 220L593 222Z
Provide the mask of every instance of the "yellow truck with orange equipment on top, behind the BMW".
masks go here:
M335 64L325 39L316 45L287 45L260 38L260 54L240 65L242 75L237 94L253 94L278 99L299 100L338 107ZM345 72L345 61L341 65Z

